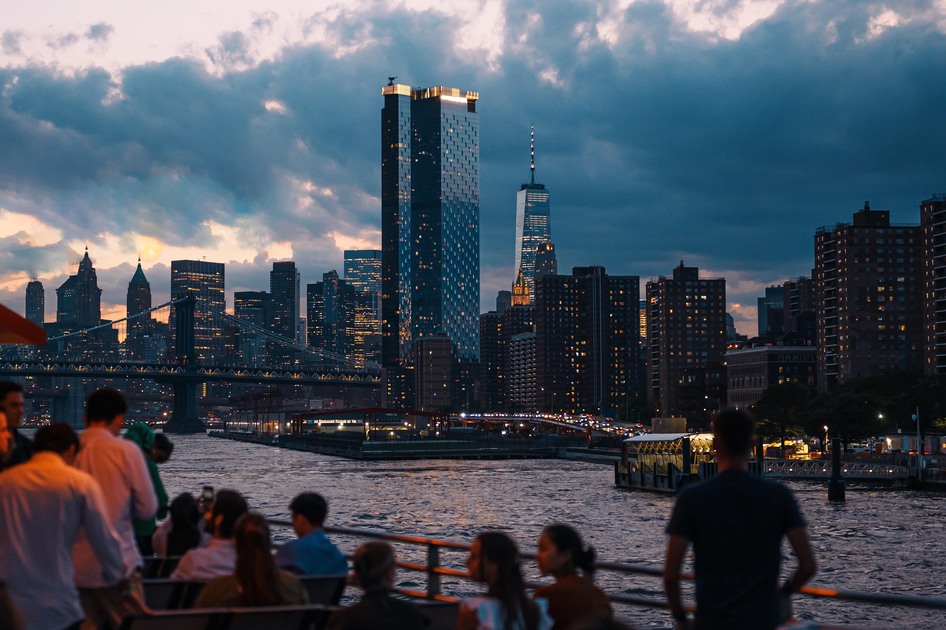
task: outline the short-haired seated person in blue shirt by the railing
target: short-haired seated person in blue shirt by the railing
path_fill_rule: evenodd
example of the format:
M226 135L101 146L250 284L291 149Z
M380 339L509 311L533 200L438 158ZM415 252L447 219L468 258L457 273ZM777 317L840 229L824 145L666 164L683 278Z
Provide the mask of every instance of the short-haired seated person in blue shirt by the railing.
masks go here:
M345 556L322 529L328 513L325 500L314 492L304 492L292 500L289 510L292 529L299 537L279 548L276 565L301 575L347 575Z

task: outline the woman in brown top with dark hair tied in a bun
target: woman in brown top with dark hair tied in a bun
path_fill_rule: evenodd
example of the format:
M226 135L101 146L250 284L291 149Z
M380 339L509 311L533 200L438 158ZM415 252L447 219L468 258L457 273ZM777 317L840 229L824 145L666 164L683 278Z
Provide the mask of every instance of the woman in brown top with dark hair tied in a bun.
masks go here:
M536 598L549 601L555 630L569 630L579 621L610 619L607 595L588 577L594 570L594 548L585 547L578 532L568 525L546 527L539 536L535 560L543 575L555 578L554 584L535 589Z

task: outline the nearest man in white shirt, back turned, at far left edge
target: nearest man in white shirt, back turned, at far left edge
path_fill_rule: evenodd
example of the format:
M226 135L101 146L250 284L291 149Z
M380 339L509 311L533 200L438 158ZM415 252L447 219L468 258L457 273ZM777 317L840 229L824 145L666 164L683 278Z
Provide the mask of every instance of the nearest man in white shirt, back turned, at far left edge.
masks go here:
M71 468L79 436L58 422L36 433L34 455L0 474L0 581L26 630L77 628L85 617L73 574L79 529L98 579L117 584L124 562L96 481Z

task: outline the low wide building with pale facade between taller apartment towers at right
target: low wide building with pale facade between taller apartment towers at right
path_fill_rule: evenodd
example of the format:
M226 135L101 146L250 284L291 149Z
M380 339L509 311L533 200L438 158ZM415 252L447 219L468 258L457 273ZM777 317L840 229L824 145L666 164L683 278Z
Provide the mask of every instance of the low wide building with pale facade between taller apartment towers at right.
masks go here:
M805 340L786 335L775 344L746 344L726 352L727 404L751 407L769 385L795 382L815 393L817 349Z

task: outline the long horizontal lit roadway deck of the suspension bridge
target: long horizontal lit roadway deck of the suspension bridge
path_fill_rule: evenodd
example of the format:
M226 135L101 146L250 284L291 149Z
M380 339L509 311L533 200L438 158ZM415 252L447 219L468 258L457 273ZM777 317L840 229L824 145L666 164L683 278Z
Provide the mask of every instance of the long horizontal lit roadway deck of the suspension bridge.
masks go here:
M0 364L0 375L79 379L152 379L178 383L273 383L380 387L377 370L274 369L272 367L174 366L140 363L90 363L79 361L13 362Z

